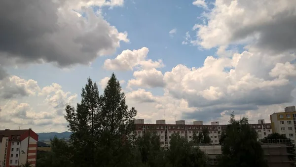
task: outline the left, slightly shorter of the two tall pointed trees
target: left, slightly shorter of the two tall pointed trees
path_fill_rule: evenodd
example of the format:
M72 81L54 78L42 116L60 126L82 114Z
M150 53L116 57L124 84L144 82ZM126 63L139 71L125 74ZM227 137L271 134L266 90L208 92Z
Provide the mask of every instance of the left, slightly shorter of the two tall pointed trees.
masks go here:
M81 102L76 108L66 105L65 118L68 121L73 145L73 161L79 167L94 167L95 148L98 138L102 135L102 125L99 120L101 113L99 90L90 78L82 88Z

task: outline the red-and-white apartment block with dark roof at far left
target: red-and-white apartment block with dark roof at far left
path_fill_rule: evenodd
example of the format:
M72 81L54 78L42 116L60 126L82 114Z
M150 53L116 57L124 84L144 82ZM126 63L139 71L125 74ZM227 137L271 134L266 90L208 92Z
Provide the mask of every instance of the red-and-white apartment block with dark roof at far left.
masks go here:
M38 135L30 128L0 130L0 167L36 166Z

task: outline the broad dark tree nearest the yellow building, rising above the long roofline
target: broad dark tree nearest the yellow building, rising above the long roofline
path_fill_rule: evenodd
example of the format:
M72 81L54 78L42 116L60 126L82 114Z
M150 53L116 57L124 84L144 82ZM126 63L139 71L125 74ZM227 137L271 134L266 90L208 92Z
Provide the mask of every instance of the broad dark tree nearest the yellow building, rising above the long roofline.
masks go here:
M222 137L222 156L219 167L268 167L258 134L248 124L248 119L234 119L232 112L225 135Z

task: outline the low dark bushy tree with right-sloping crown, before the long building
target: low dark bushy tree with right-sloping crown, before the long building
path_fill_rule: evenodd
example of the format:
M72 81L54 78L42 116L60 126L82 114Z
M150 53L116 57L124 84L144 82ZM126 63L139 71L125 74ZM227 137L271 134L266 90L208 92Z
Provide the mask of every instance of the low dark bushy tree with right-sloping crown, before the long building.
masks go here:
M172 134L167 161L171 167L207 167L207 156L192 142L187 142L179 134Z

